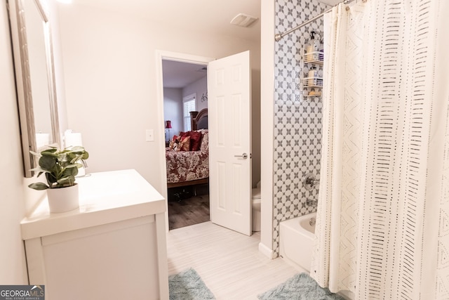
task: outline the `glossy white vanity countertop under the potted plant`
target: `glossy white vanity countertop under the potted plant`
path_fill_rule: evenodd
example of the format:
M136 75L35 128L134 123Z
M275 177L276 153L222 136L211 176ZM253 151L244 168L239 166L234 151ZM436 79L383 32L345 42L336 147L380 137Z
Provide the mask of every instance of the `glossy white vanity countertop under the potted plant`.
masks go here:
M166 211L162 195L133 169L92 173L76 178L76 182L79 209L51 214L44 197L20 223L22 240Z

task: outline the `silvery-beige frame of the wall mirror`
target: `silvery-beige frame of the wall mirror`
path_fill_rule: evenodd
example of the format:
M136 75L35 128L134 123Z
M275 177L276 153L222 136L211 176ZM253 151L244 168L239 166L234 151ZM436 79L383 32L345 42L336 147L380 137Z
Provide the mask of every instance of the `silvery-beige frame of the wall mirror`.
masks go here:
M7 0L11 26L11 41L13 43L13 58L15 68L15 84L18 98L20 136L22 141L22 157L25 177L34 176L31 171L36 167L36 159L29 152L36 151L36 129L34 127L34 110L31 89L31 73L29 70L29 54L27 48L27 28L25 24L25 6L23 1ZM46 47L46 66L48 77L48 95L53 139L51 143L60 145L60 129L58 119L58 103L55 89L55 66L53 58L53 41L48 12L41 0L34 0L43 20L44 43Z

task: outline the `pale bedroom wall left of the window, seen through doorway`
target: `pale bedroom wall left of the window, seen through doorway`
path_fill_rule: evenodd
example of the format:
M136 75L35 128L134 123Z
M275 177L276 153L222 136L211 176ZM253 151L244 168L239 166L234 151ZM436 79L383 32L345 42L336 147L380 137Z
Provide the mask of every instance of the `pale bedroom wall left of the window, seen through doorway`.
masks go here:
M171 121L170 136L172 138L182 131L182 89L163 89L163 118Z

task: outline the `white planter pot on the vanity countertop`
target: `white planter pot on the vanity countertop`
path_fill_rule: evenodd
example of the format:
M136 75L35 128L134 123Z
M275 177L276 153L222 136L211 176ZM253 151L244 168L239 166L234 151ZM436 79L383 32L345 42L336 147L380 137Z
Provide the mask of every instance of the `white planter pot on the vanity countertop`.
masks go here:
M79 207L78 184L67 188L48 188L48 207L51 213L72 211Z

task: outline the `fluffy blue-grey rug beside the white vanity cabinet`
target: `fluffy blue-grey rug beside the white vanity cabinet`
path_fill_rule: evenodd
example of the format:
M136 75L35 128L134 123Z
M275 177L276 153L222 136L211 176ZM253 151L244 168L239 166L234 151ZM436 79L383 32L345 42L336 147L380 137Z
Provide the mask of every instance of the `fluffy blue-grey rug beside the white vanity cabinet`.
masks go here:
M168 277L170 300L203 300L215 299L210 289L206 287L196 270L189 268L177 275Z

